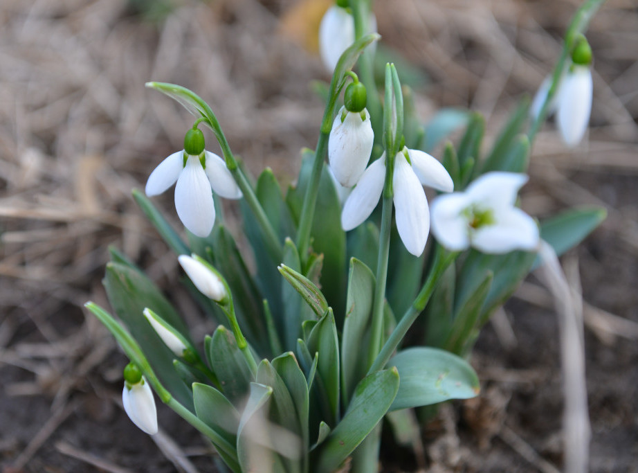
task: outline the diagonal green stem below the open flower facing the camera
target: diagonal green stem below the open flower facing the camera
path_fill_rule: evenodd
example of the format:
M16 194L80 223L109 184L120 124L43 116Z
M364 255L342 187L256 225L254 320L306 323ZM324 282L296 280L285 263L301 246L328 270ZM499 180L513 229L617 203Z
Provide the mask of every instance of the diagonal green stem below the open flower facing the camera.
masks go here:
M432 269L428 274L426 282L423 283L423 287L421 287L421 292L419 292L417 298L414 299L414 303L410 305L410 308L405 311L405 314L399 323L397 323L397 327L394 328L394 331L390 334L390 337L388 337L388 340L379 352L379 356L376 357L374 363L370 366L370 370L367 372L368 375L374 373L374 371L383 369L385 364L388 363L388 360L392 357L392 353L397 349L399 343L401 343L401 340L405 337L405 334L408 333L408 330L412 327L414 321L417 320L419 314L426 308L430 296L432 296L432 292L434 292L441 280L441 275L457 256L459 256L458 252L447 253L443 247L437 247Z

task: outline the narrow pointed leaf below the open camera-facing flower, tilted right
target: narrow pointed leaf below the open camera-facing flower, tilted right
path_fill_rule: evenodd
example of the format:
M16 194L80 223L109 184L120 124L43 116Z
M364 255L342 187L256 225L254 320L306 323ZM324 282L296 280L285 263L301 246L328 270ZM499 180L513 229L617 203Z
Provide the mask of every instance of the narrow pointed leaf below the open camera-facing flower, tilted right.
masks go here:
M480 285L466 300L464 305L457 310L450 334L444 345L449 352L453 352L456 355L464 355L466 353L466 348L470 344L468 342L473 340L474 332L480 329L481 309L492 284L492 279L493 273L486 271Z

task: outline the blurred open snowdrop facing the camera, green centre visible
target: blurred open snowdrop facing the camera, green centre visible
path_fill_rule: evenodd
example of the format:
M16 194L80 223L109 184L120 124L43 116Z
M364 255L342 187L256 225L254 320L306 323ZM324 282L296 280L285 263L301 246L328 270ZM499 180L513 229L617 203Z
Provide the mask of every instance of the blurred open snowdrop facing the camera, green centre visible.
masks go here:
M514 206L527 176L487 172L465 192L440 195L432 202L432 233L450 251L468 247L483 253L508 253L538 247L538 226Z

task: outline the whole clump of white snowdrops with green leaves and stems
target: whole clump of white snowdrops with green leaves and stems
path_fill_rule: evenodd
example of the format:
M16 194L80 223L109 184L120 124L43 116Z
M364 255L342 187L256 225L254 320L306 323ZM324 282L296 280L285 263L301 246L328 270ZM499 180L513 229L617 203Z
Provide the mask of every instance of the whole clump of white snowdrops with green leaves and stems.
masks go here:
M556 111L567 145L585 134L592 53L581 33L599 3L577 12L554 73L485 153L479 114L443 110L423 125L393 64L377 89L370 3L337 1L320 28L334 73L318 143L302 150L285 192L271 170L246 175L204 100L149 82L195 120L183 150L133 197L218 325L203 343L192 340L153 281L111 250L104 286L119 321L86 307L131 361L122 391L131 420L158 431L154 391L233 472L368 472L377 470L384 418L400 429L406 409L478 395L467 356L482 326L540 264L542 245L562 253L604 215L577 208L539 223L517 205L546 116ZM206 149L200 127L212 130L221 156ZM429 154L463 127L457 145ZM186 239L149 199L174 184ZM432 202L423 186L437 190ZM252 254L225 226L220 198L239 200Z

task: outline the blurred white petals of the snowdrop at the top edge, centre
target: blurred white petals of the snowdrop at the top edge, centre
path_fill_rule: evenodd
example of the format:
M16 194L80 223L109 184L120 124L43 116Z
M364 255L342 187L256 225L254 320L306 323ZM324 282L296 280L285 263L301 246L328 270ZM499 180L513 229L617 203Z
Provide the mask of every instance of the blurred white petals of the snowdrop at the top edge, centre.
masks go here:
M376 32L376 17L372 13L370 13L368 24L370 28L367 33ZM339 57L352 43L354 43L354 18L345 8L331 6L319 26L319 52L326 69L334 71Z

